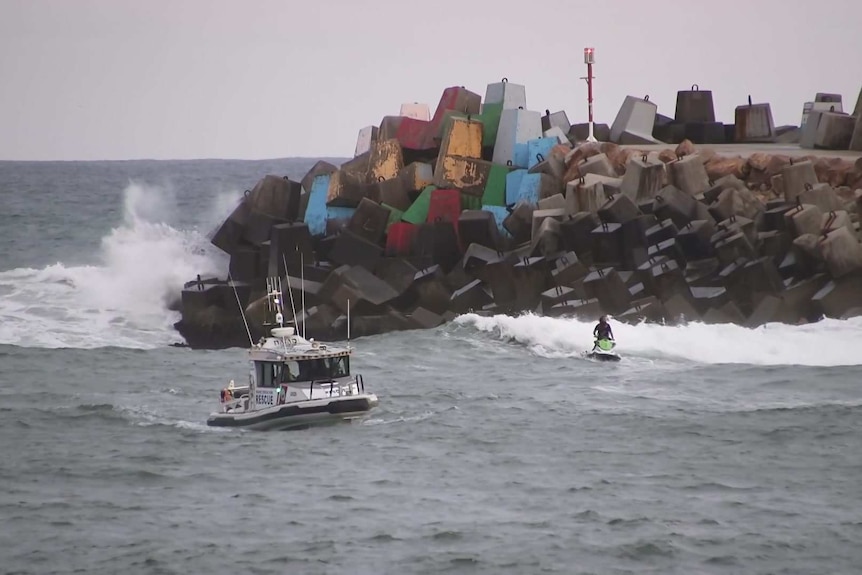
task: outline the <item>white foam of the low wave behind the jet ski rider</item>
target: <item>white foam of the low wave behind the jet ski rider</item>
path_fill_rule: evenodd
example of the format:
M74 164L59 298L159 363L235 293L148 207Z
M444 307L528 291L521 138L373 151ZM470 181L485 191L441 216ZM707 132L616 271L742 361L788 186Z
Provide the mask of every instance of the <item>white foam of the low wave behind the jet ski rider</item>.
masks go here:
M523 315L466 314L455 322L514 340L543 357L574 357L592 347L594 322ZM621 354L697 363L836 366L862 364L862 318L814 324L628 325L611 320Z

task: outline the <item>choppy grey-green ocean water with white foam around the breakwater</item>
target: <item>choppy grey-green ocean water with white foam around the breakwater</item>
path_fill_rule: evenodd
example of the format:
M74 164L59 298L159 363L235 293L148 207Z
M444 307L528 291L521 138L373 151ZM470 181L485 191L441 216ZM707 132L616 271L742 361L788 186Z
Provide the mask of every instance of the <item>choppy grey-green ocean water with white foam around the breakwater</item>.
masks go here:
M363 421L208 428L244 353L168 305L313 161L0 163L0 572L862 572L858 318L466 315L354 341Z

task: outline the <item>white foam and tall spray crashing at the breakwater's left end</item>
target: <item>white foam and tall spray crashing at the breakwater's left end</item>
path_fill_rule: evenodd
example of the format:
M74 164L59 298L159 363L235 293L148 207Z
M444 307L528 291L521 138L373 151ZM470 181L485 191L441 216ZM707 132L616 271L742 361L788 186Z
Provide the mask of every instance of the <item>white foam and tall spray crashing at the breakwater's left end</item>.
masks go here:
M230 213L237 196L206 206L201 229ZM179 314L168 306L197 274L223 276L226 258L200 231L167 223L176 204L169 189L132 182L123 222L94 247L92 265L0 272L0 343L151 348L180 341L173 329Z

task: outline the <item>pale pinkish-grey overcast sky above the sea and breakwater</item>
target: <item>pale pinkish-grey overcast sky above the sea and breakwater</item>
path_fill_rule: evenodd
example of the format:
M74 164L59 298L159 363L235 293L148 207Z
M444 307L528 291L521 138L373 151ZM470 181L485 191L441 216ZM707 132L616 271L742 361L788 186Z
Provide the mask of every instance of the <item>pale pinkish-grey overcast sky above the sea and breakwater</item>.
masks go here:
M587 120L627 95L719 121L862 89L862 0L0 0L0 160L353 155L361 128L446 87L506 77L527 107Z

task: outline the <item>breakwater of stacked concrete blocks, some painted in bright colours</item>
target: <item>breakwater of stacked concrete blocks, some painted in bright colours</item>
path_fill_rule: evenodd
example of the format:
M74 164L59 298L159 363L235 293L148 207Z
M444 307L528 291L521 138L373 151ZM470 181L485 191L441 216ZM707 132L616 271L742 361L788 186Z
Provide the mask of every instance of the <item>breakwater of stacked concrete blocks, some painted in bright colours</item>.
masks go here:
M751 327L862 315L862 160L806 155L858 148L862 120L816 101L800 128L776 128L751 102L716 122L696 86L673 118L629 97L596 126L605 141L585 142L565 112L530 110L524 86L447 88L433 114L405 104L360 130L341 165L258 181L211 235L229 270L186 284L176 328L192 347L246 345L239 309L259 338L274 277L319 338L346 334L348 302L355 336L468 311ZM763 151L710 148L727 143Z

